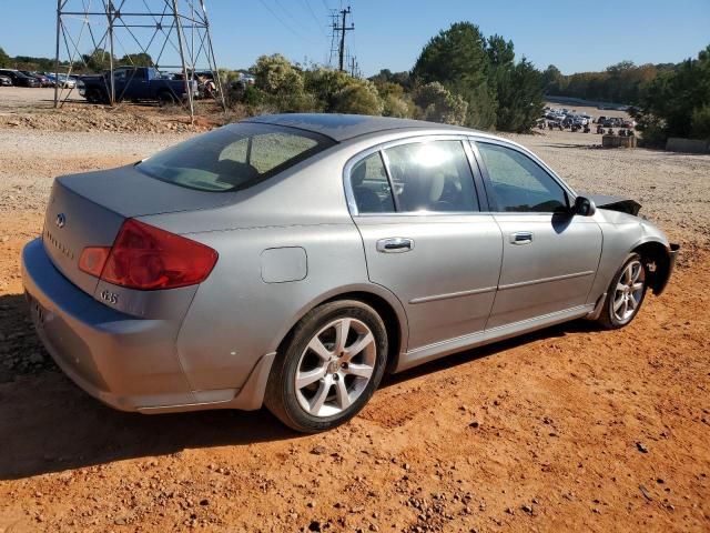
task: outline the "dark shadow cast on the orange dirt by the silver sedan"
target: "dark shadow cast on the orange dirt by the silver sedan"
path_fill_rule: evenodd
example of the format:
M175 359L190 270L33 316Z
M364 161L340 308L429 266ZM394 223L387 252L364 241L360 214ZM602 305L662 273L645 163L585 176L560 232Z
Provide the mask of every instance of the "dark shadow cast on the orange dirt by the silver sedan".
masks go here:
M3 333L0 336L0 480L124 459L170 455L186 449L303 438L265 409L143 415L106 408L59 371L27 316L23 296L0 296ZM386 376L382 386L393 386L535 340L590 329L594 324L589 322L561 324Z

